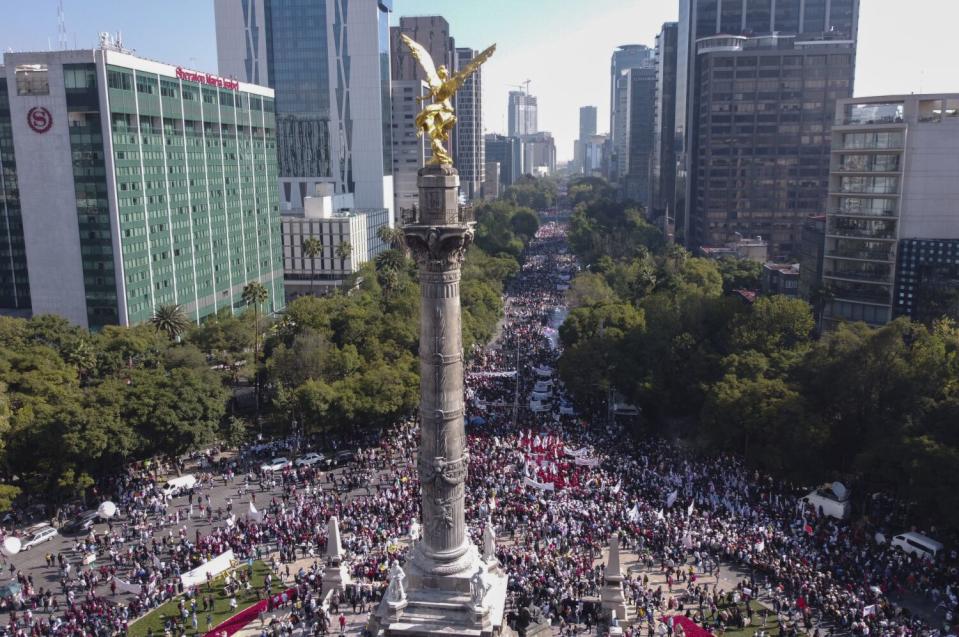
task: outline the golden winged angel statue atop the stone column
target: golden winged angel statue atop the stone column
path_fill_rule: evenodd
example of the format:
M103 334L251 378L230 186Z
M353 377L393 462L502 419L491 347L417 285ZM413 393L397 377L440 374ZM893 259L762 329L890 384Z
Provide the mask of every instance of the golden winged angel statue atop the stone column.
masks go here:
M420 66L423 67L423 72L426 73L427 83L430 86L429 96L418 97L416 98L417 101L422 102L428 98L433 98L433 103L424 107L419 115L416 116L416 128L419 129L417 134L429 135L430 145L433 150L433 158L430 159L430 164L452 164L453 158L443 146L444 142L449 141L450 130L453 128L453 125L456 124L456 115L453 112L451 99L456 93L456 90L463 84L463 81L472 75L483 62L490 59L493 51L496 50L496 45L494 44L474 57L462 71L451 76L446 66L440 65L440 68L435 68L433 66L433 58L430 57L429 51L424 49L422 45L413 40L413 38L405 34L400 37L403 39L407 48L409 48L413 59L419 62Z

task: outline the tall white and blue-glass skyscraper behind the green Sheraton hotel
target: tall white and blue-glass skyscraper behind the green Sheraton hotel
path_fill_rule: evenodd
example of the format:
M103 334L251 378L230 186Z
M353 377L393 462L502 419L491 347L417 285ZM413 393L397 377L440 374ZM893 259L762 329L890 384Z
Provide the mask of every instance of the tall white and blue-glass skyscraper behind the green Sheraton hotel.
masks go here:
M392 0L215 0L220 73L276 92L280 196L322 183L393 207Z

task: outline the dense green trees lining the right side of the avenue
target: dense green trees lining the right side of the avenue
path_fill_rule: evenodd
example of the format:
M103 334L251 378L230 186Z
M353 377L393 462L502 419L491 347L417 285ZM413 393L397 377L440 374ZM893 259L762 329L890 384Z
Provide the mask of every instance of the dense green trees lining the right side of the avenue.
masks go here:
M615 389L643 427L813 484L842 478L959 528L959 329L899 319L813 338L804 301L732 289L760 269L667 246L601 180L571 182L569 291L559 371L577 401Z

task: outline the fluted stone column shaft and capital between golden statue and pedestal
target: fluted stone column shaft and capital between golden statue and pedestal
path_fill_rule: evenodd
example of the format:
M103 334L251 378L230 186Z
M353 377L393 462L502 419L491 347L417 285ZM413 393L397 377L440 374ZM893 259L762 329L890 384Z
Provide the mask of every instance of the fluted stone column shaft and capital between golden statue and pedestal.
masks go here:
M460 268L473 240L460 217L459 177L449 166L420 170L420 207L404 226L420 279L420 447L423 537L411 575L427 587L462 576L475 561L464 511L466 440L463 427L463 339Z

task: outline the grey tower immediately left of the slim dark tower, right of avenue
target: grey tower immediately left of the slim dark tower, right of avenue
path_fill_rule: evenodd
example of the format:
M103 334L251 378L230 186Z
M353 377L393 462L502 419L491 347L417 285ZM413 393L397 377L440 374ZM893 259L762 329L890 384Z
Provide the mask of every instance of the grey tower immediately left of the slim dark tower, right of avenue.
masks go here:
M623 194L649 209L650 162L656 122L656 67L652 64L625 71L626 84L626 164Z

